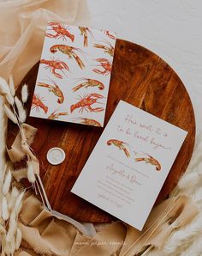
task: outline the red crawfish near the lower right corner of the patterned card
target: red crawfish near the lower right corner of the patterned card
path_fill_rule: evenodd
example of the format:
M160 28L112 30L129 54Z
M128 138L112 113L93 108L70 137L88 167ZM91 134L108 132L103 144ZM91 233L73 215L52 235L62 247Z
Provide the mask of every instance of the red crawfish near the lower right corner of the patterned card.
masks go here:
M98 99L103 99L104 96L101 95L101 94L86 94L84 95L84 97L79 97L77 100L80 100L78 101L77 103L75 103L74 105L72 105L70 107L70 111L71 113L73 113L73 111L76 109L76 108L80 108L80 111L81 113L83 113L84 110L86 110L87 112L101 112L101 111L104 111L104 107L96 107L96 108L92 108L92 105L94 103L100 103L98 102ZM100 103L101 104L101 103Z

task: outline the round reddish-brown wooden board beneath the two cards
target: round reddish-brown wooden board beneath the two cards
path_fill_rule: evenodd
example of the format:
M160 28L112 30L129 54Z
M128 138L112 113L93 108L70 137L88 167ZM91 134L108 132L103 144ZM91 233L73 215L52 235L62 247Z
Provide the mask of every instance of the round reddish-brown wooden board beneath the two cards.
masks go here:
M26 82L29 87L28 110L31 107L38 68L39 64L35 64L21 82L21 85ZM168 196L181 174L186 171L193 153L195 120L189 95L175 71L163 59L142 46L117 40L104 125L120 100L188 131L157 198L157 202L160 202ZM108 213L70 192L103 128L34 118L27 118L27 124L39 129L33 150L38 155L40 175L53 210L80 221L110 221L112 217ZM9 146L13 143L16 132L15 125L9 123ZM60 147L66 153L65 161L59 166L52 166L46 160L46 154L52 147Z

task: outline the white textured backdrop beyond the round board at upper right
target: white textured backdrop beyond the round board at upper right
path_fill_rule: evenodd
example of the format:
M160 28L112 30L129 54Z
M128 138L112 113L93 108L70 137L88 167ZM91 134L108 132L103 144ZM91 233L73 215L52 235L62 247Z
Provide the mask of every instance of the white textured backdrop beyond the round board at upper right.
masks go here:
M202 1L87 0L92 27L145 46L181 77L202 131Z

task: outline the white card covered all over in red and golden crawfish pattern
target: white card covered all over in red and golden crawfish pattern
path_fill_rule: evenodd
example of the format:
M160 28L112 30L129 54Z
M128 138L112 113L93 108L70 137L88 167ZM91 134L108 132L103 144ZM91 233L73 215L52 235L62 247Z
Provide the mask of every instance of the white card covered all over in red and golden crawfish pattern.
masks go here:
M116 35L49 22L30 116L103 126Z

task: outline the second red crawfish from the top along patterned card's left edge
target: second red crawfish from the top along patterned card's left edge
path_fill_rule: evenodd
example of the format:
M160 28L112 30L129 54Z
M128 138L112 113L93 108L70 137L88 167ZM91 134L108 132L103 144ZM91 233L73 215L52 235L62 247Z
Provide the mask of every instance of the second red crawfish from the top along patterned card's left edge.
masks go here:
M58 60L58 59L47 60L47 59L43 58L43 59L40 60L40 64L46 64L45 69L50 69L50 72L53 75L55 75L57 78L62 78L62 75L57 73L56 70L61 70L61 71L62 70L69 70L68 65L66 63L64 63L63 61Z

